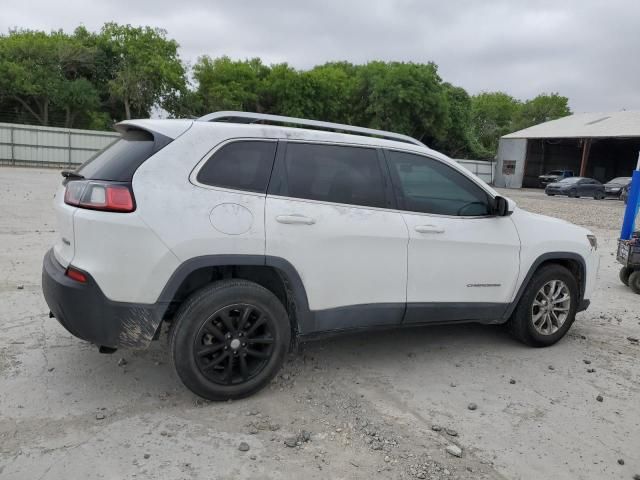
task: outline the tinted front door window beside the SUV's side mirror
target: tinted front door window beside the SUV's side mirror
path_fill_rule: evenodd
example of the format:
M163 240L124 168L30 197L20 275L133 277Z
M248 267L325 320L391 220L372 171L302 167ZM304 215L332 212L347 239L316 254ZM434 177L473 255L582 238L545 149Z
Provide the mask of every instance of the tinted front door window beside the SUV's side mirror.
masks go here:
M490 214L488 194L444 163L393 151L389 161L404 210L453 216Z

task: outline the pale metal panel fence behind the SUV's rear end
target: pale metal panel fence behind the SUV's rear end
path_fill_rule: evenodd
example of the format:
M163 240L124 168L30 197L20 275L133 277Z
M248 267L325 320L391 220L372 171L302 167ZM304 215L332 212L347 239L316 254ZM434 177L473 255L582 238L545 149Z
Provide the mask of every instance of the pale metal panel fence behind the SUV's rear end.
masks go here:
M73 167L118 136L115 132L0 123L0 165Z

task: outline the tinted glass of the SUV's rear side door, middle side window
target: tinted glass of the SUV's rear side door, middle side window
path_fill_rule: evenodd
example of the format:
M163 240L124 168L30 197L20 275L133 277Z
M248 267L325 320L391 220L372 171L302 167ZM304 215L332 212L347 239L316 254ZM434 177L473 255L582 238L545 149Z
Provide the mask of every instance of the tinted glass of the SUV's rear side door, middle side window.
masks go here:
M289 143L284 195L323 202L384 207L378 154L372 148Z

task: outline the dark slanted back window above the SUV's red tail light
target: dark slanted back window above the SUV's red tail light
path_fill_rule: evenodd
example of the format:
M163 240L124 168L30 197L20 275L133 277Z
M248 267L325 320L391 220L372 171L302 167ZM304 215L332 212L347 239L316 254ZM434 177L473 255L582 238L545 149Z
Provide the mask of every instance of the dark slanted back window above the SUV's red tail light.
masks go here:
M119 140L83 163L77 173L91 180L130 182L142 163L170 139L144 130L129 130Z

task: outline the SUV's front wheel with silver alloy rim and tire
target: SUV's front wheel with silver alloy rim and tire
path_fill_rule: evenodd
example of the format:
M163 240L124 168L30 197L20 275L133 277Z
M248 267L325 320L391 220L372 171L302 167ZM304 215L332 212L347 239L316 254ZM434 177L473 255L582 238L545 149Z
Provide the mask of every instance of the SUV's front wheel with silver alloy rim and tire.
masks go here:
M508 327L511 335L532 347L548 347L565 336L575 320L578 284L557 264L540 268L527 285Z

